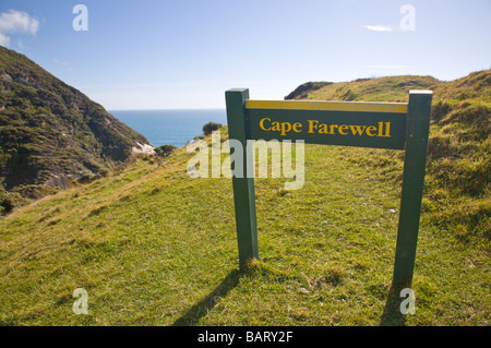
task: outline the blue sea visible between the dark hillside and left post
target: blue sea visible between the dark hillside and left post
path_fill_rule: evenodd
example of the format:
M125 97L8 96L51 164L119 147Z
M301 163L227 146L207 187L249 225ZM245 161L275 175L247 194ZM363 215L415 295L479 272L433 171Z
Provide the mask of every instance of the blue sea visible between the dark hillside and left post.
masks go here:
M225 109L108 111L145 136L154 146L171 144L182 147L195 135L203 134L204 124L208 122L227 124Z

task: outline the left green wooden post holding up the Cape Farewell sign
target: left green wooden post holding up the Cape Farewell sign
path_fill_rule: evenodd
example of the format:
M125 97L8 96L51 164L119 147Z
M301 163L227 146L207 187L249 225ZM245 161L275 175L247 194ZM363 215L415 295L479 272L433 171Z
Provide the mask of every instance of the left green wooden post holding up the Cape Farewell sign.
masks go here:
M242 144L242 171L232 168L233 203L236 208L237 240L239 244L239 266L243 268L252 259L259 259L258 231L255 220L254 178L247 177L248 163L252 164L252 152L247 151L246 100L249 89L225 92L229 139ZM236 148L235 151L240 151ZM237 167L240 164L235 164Z

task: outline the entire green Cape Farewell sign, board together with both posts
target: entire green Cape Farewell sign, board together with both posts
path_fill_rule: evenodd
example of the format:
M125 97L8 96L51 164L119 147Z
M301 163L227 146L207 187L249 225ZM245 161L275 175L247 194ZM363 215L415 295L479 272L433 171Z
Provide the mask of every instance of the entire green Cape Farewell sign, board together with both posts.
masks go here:
M242 144L243 172L232 168L239 267L259 259L254 179L248 140L404 149L403 192L393 285L410 287L424 183L431 91L409 91L409 103L250 100L248 88L225 92L230 140ZM251 158L249 158L251 157Z

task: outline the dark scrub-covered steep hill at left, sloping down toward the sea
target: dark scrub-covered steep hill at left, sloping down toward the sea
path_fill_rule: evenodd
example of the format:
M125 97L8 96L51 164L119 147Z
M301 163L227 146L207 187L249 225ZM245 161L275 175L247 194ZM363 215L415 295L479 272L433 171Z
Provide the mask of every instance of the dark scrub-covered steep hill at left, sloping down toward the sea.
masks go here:
M35 62L0 47L0 184L63 187L148 141Z

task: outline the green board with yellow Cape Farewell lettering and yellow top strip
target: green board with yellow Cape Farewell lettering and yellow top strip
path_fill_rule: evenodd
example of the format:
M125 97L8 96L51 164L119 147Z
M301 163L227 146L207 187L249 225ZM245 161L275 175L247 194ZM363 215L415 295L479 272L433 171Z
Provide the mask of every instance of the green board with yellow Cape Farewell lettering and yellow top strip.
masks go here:
M405 144L406 105L249 100L246 109L253 140L397 149Z

